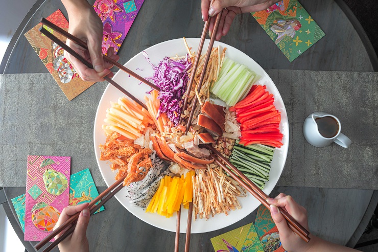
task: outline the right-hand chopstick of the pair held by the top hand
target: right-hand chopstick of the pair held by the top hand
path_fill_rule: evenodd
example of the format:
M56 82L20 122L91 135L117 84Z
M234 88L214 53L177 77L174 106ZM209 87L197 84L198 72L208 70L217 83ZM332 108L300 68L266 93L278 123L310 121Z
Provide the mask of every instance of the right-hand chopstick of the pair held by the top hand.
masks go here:
M212 50L212 46L214 45L214 41L215 41L215 37L217 36L217 31L218 31L218 27L219 27L219 23L221 21L221 17L222 17L222 13L223 13L223 9L221 10L221 12L219 12L217 14L217 18L215 20L215 25L214 25L214 29L212 30L212 33L211 33L211 39L210 39L210 43L209 43L209 46L207 48L207 52L206 52L206 58L205 58L205 61L204 61L204 64L203 64L203 68L202 68L202 73L201 73L201 77L200 77L200 80L198 82L198 93L201 91L201 87L202 87L202 83L203 83L203 79L205 78L205 74L206 74L206 68L207 68L207 64L209 62L209 58L210 58L210 54L211 54L211 50ZM193 70L192 70L193 71ZM192 73L192 75L194 75L195 73ZM197 104L197 96L194 96L193 97L193 106L192 106L192 110L191 110L191 113L189 115L189 119L186 123L186 131L185 131L185 134L189 131L190 129L190 126L192 125L192 120L193 120L193 116L194 116L194 111L196 110L196 104Z

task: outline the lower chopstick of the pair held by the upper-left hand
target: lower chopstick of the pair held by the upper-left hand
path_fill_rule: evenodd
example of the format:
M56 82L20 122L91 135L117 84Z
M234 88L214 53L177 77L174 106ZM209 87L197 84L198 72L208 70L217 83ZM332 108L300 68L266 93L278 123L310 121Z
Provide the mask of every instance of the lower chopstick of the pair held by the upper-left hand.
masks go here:
M72 54L75 58L77 58L78 60L80 60L83 64L85 64L89 68L93 69L93 65L91 63L89 63L89 61L87 61L86 59L84 59L80 54L78 54L77 52L75 52L72 48L68 47L68 45L66 45L60 39L58 39L53 34L51 34L48 30L44 29L43 26L41 28L39 28L39 31L43 35L45 35L46 37L50 38L52 41L54 41L55 43L57 43L61 48L63 48L69 54ZM137 104L139 104L140 106L142 106L143 108L145 108L146 110L148 110L146 104L144 104L143 102L141 102L138 99L136 99L136 97L134 97L133 95L131 95L126 89L124 89L123 87L121 87L119 84L117 84L111 78L109 78L108 76L104 76L104 79L106 81L108 81L110 84L112 84L113 86L115 86L116 88L118 88L122 93L124 93L126 96L128 96L129 98L131 98L134 102L136 102Z

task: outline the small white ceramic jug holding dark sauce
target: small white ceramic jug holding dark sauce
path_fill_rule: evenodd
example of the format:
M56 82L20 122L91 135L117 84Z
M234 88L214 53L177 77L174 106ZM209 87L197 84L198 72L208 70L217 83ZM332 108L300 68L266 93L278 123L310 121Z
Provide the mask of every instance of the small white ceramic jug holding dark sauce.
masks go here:
M315 120L323 117L332 117L338 123L337 133L332 138L325 138L319 132L318 124ZM335 142L344 148L348 148L352 142L346 135L341 133L341 123L339 119L326 112L315 112L310 114L310 116L304 120L303 135L307 142L315 147L325 147Z

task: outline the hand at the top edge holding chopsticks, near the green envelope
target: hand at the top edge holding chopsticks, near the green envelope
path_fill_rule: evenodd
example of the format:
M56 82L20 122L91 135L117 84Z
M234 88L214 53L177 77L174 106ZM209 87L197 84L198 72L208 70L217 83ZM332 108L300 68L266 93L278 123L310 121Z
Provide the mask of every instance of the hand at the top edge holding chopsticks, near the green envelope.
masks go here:
M219 28L216 40L220 40L230 30L233 19L237 14L262 11L268 9L279 0L214 0L210 6L210 0L201 0L201 12L204 21L207 21L209 16L214 16L223 10L222 18L219 23ZM214 29L215 18L211 18L209 26L209 36Z

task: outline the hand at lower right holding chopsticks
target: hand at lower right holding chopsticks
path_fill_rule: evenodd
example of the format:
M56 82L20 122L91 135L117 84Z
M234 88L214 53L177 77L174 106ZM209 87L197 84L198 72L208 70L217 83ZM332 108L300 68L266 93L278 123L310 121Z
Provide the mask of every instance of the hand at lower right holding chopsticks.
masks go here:
M291 230L285 217L279 212L277 207L285 209L299 224L306 228L306 230L309 230L306 209L295 202L291 196L287 196L283 193L280 193L275 199L268 198L267 202L271 204L270 213L278 228L282 247L291 252L308 251L312 243L306 243Z

